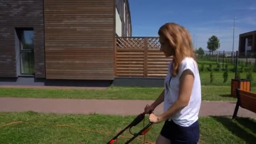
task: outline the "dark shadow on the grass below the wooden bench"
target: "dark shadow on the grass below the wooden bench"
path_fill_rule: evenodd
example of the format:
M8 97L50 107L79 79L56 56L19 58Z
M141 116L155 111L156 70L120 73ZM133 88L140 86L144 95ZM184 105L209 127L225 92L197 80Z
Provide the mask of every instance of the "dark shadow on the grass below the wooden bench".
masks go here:
M212 116L213 119L220 122L225 128L231 131L237 137L246 141L247 144L253 144L256 140L256 136L252 133L256 132L256 121L249 118L237 117L236 120L232 120L230 117ZM244 128L248 128L246 131Z

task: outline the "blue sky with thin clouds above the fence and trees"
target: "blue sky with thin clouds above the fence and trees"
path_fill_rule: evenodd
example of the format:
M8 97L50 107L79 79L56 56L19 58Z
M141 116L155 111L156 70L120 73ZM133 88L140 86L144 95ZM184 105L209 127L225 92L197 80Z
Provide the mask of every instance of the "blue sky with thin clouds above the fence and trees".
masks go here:
M132 36L158 37L167 22L186 27L195 48L207 49L212 35L220 40L219 51L234 51L239 34L256 30L256 0L129 0Z

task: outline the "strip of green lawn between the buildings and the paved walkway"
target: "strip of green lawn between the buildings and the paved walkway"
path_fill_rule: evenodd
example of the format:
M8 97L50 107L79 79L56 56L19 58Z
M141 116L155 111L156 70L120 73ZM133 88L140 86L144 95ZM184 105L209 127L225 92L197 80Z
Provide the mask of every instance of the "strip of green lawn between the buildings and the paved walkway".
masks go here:
M256 92L256 87L251 88ZM163 88L110 87L107 90L0 88L0 97L68 99L141 99L155 100ZM230 86L202 85L204 101L235 101Z

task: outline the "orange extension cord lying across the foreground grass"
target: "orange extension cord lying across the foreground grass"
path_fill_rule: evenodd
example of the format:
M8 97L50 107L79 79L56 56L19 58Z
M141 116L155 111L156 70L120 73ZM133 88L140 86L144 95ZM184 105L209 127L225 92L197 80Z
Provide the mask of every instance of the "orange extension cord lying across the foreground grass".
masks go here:
M3 128L3 127L8 126L8 125L13 125L13 124L16 124L16 123L26 123L26 124L45 125L45 126L54 126L54 127L69 127L69 128L75 128L74 126L71 126L71 125L46 125L46 124L42 124L42 123L22 122L22 121L7 123L7 124L5 124L5 125L0 126L0 128ZM144 125L144 122L143 122L143 125ZM88 130L88 129L85 129L85 128L75 128L75 129L77 129L77 130L82 130L82 131L95 132L95 133L107 133L107 134L109 134L109 135L115 136L115 134L109 133L109 132L107 132L107 131L93 131L93 130ZM122 135L120 135L119 137L125 138L125 139L131 139L130 137L122 136ZM141 139L138 139L138 138L135 138L135 139L137 139L138 141L143 142L144 144L145 144L145 143L147 143L147 144L154 144L154 142L145 141L145 135L144 135L144 141L141 140ZM116 143L117 143L117 140L116 140Z

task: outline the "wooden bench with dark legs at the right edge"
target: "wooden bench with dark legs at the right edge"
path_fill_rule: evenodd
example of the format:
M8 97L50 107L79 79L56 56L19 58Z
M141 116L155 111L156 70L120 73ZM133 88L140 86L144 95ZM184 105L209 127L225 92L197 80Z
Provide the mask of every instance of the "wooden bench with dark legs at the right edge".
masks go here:
M237 104L235 106L235 111L232 119L235 119L237 116L237 112L239 107L247 109L251 112L256 113L256 93L250 91L243 91L240 89L236 89L237 93Z

